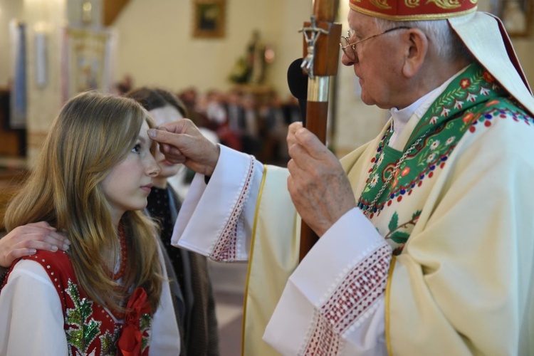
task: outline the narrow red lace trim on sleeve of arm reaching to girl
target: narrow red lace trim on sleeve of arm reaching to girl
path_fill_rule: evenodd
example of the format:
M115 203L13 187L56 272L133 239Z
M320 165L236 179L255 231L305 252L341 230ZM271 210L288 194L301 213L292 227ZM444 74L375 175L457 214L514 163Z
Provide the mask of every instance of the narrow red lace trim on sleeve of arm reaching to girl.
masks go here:
M211 258L216 261L231 262L236 261L237 255L237 222L241 212L243 211L246 197L250 192L251 180L254 172L254 159L251 157L251 164L248 166L248 173L246 175L245 184L239 198L237 199L236 206L232 209L230 218L224 226L223 232L217 240Z

